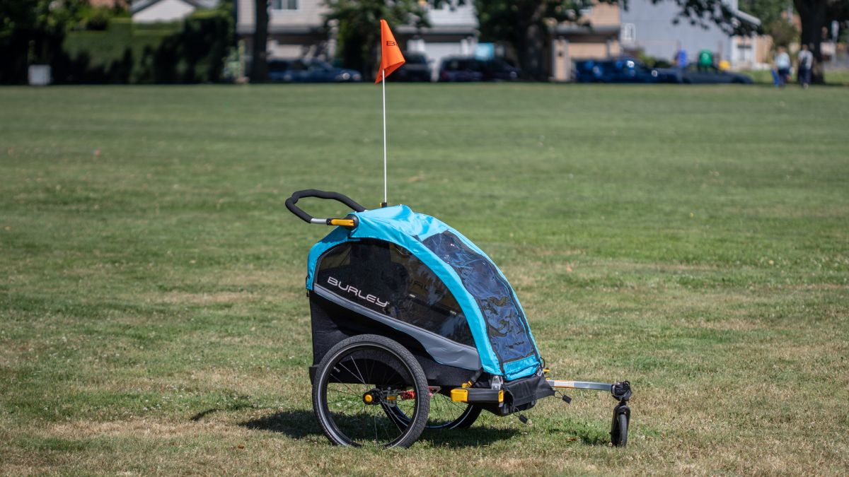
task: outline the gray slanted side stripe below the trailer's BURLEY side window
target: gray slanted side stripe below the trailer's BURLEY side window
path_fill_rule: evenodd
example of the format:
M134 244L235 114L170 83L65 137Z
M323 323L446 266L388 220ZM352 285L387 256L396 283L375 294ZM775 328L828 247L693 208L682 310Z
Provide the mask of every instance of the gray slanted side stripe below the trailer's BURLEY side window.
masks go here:
M475 348L466 345L460 345L452 340L448 340L436 333L422 328L415 327L411 324L398 321L395 318L381 315L376 311L369 310L365 306L355 303L351 300L335 295L329 289L323 288L321 285L315 284L312 287L312 292L334 302L336 305L345 306L346 308L357 311L357 313L372 318L374 321L391 326L398 331L412 336L424 346L424 350L433 356L433 359L440 364L453 366L456 368L464 368L471 370L481 369L481 357Z

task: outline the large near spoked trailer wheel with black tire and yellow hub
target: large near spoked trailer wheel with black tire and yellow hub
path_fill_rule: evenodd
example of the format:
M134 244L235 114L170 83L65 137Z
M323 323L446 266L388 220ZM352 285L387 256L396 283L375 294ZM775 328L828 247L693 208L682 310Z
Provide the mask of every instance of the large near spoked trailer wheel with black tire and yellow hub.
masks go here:
M324 435L339 446L409 447L427 424L428 395L424 371L409 351L384 336L360 334L318 363L312 409ZM393 418L393 407L411 418Z

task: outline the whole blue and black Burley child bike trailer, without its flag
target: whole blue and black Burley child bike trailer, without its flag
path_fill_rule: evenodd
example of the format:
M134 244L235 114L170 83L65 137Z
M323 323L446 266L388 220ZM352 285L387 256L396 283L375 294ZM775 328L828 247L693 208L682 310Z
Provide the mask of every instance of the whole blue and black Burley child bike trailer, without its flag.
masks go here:
M352 212L315 218L296 205L306 197ZM628 382L549 378L507 278L463 234L407 205L366 210L334 192L301 190L286 207L335 226L306 272L312 406L331 442L407 447L425 428L467 428L483 411L506 416L582 389L618 401L610 436L626 445Z

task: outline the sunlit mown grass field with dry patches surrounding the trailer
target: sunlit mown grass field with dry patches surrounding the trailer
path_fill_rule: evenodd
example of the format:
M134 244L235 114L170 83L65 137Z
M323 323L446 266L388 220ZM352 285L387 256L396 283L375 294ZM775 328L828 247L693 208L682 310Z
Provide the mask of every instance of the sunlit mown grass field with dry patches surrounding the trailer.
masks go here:
M0 473L846 474L849 89L396 85L389 199L610 396L330 446L296 189L377 205L380 89L0 89ZM345 212L309 204L317 216Z

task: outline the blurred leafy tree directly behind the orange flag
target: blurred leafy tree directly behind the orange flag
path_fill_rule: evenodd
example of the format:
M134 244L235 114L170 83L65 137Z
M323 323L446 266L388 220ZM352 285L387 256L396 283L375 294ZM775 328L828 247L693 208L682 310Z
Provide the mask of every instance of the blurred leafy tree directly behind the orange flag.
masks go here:
M346 68L363 77L374 77L380 43L380 19L391 28L400 25L428 26L427 2L419 0L327 0L326 28L337 28L337 55Z

